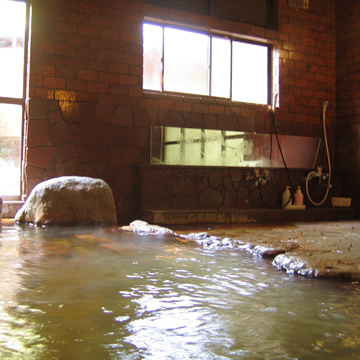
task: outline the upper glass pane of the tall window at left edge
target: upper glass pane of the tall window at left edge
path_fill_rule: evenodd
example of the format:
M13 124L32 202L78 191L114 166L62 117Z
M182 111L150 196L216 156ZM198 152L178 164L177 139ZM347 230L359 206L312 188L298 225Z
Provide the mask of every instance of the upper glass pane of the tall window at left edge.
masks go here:
M0 96L22 98L25 10L23 2L0 1Z

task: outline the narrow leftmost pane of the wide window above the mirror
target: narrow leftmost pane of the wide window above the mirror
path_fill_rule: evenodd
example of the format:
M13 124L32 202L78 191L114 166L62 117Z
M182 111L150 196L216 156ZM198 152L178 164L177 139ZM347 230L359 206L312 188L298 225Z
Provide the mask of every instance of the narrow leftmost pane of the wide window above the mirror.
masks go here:
M144 24L143 26L143 88L161 91L162 78L162 40L161 26Z

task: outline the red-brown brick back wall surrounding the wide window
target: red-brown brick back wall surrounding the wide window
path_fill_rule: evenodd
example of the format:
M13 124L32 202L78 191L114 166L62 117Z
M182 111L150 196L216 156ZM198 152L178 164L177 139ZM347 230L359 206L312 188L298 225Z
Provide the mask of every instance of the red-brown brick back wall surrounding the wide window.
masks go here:
M151 125L271 131L267 106L144 94L142 21L162 17L268 39L280 54L279 131L320 136L335 124L335 0L308 10L279 0L279 30L162 10L143 0L32 0L24 192L61 175L111 186L119 221L139 209L136 165L149 164Z

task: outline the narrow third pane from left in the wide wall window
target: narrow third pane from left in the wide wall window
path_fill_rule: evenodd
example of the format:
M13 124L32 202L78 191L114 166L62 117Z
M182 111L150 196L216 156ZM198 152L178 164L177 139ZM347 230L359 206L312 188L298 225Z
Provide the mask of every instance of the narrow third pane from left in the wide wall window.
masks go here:
M211 95L230 97L231 42L213 38L211 53Z

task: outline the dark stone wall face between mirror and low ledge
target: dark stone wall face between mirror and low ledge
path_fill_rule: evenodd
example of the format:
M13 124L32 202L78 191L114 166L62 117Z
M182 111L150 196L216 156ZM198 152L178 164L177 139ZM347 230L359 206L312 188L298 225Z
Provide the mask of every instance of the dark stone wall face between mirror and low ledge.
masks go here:
M279 208L281 194L289 185L282 170L270 172L261 194L255 181L248 179L251 169L147 166L139 172L141 208L153 210ZM306 171L290 172L293 190L300 185L304 191Z

